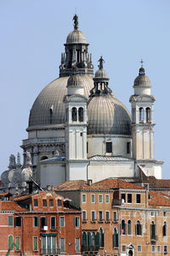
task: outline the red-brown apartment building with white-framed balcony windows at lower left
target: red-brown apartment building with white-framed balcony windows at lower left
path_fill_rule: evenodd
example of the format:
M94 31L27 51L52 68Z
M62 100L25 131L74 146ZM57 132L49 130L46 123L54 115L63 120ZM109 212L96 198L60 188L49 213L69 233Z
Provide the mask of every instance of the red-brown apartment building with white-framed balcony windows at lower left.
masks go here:
M81 252L81 212L54 191L2 197L0 255Z

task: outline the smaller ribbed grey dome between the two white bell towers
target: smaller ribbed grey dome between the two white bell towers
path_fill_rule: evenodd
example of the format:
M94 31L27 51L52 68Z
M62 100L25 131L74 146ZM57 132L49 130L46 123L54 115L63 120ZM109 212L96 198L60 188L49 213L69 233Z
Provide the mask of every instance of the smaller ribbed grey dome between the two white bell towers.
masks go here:
M90 98L88 134L131 135L131 118L127 108L115 96Z

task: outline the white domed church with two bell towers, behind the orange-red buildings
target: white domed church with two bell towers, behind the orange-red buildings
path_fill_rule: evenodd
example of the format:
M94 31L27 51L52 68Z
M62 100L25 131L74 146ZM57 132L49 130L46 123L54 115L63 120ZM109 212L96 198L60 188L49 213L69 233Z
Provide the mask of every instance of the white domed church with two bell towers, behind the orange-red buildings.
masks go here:
M24 163L10 158L3 188L26 185L29 176L42 188L71 180L92 183L105 178L134 181L140 171L161 179L154 158L154 102L143 61L129 96L131 113L110 88L103 56L94 72L88 41L79 30L66 38L59 78L37 96L23 140ZM97 60L96 60L97 61ZM23 174L24 172L24 174Z

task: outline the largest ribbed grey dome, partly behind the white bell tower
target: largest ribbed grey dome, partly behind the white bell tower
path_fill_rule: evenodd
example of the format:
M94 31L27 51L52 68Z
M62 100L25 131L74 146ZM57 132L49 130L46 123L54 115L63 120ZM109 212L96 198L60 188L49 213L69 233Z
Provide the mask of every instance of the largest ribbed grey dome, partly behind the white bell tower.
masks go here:
M61 125L65 123L64 96L67 94L67 80L69 77L55 79L48 84L37 96L29 118L29 127L41 125ZM85 96L89 96L94 86L93 77L81 75Z

